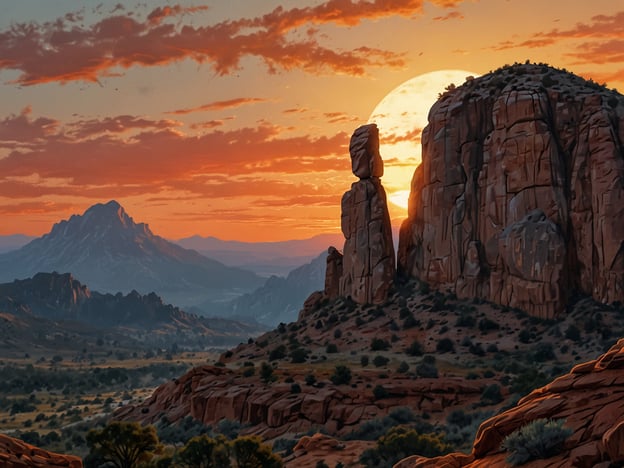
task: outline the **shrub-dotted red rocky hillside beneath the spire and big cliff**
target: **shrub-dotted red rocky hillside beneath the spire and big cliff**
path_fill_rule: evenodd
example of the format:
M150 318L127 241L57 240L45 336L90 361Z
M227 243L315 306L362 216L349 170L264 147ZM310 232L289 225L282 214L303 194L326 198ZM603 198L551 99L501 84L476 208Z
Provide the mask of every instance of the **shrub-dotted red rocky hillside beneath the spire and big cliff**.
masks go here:
M265 438L322 428L357 439L402 408L437 427L454 410L480 422L624 333L621 310L587 298L555 324L421 287L403 285L379 306L313 295L297 322L225 353L220 366L161 386L117 417L156 423L163 414L172 422L191 415L211 425L225 418ZM336 366L349 378L336 380ZM465 431L450 430L463 444Z

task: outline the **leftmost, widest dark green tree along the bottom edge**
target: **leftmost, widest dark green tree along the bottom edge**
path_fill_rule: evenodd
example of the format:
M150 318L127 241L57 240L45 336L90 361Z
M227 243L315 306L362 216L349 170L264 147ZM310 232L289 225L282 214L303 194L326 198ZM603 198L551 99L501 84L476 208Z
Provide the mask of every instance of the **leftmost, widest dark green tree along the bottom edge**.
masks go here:
M102 429L91 429L87 433L87 445L90 449L88 459L109 462L116 468L133 468L160 449L154 426L123 421L113 421ZM85 466L89 466L87 459Z

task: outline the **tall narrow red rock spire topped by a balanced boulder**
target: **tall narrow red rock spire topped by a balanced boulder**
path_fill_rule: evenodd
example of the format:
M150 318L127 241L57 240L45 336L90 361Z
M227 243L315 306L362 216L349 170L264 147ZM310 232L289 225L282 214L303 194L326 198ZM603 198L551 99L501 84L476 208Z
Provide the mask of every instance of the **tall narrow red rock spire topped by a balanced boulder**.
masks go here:
M343 256L339 258L338 252L330 249L325 289L329 297L336 297L337 290L340 296L350 296L360 304L381 304L394 280L395 264L386 192L379 179L383 161L377 125L356 129L349 153L353 174L360 180L342 197Z

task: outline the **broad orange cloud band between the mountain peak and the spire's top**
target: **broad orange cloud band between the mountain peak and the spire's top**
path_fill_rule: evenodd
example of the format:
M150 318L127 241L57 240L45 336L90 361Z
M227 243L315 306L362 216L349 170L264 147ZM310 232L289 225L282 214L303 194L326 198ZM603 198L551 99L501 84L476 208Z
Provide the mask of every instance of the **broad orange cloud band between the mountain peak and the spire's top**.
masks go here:
M233 185L214 179L214 174L283 179L285 174L312 172L322 178L318 174L324 171L347 170L348 141L346 133L286 136L281 127L268 123L229 131L217 127L195 135L168 120L123 115L60 126L22 113L0 123L0 148L11 149L0 159L0 196L94 196L111 187L135 195L173 188L227 196ZM202 178L206 174L212 175L210 180ZM63 183L46 182L51 180ZM253 192L255 182L236 186ZM289 186L286 192L290 196L293 190L297 188Z

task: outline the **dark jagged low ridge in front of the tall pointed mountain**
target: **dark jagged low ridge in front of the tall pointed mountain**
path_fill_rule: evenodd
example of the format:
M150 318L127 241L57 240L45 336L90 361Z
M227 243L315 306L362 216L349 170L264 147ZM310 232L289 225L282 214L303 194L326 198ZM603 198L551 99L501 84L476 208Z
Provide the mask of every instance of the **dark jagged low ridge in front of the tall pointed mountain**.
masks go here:
M162 345L177 340L197 348L239 343L262 331L256 325L186 313L155 293L91 291L69 273L38 273L0 284L0 316L5 321L0 347L15 347L18 335L23 344L28 334L34 339L55 332L95 336L112 331L135 342Z

